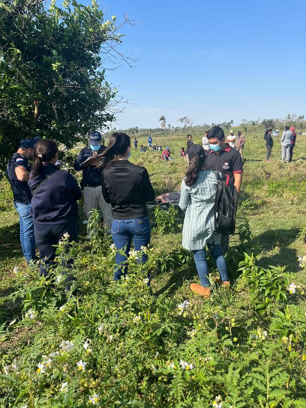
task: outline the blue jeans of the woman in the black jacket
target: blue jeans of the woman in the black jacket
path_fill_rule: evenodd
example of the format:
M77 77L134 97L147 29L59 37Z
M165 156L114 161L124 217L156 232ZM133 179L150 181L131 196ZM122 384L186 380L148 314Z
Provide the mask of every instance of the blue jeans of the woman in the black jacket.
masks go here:
M116 252L116 267L114 279L118 281L122 274L126 274L126 259L129 258L132 239L136 251L141 246L148 246L151 238L151 227L149 217L131 218L127 220L114 219L112 223L112 237L117 249L123 249L125 254ZM144 263L148 259L147 254L142 253L138 259L139 263ZM122 272L123 268L123 272Z

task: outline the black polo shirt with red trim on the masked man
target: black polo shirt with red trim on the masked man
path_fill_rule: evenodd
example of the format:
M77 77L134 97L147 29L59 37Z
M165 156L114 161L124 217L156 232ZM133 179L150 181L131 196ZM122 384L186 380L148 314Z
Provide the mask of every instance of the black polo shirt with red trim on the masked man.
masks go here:
M223 149L217 155L213 150L206 150L205 168L218 170L222 175L230 176L230 184L234 184L234 174L243 173L243 163L238 150L224 143Z

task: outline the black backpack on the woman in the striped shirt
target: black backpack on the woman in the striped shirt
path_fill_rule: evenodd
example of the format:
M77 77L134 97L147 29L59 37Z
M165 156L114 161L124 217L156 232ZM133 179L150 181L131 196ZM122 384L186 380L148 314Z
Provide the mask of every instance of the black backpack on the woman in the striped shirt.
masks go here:
M235 186L229 185L230 176L220 178L219 172L213 170L218 180L215 198L215 233L231 235L235 233L238 194Z

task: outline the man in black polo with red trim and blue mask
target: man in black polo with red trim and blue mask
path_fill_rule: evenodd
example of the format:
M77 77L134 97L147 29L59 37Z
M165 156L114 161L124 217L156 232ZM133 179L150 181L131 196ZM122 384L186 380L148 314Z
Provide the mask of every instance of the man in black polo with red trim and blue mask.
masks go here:
M239 194L243 163L239 151L225 143L225 135L221 127L213 126L207 135L210 150L206 150L205 167L207 170L218 170L222 175L230 176L230 184L233 184ZM228 235L221 237L221 248L225 253L228 249Z

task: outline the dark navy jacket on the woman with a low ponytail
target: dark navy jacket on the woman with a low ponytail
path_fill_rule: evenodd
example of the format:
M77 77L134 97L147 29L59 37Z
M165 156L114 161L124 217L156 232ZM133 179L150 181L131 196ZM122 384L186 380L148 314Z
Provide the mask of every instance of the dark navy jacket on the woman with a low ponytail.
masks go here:
M50 174L52 176L46 180ZM38 186L42 180L46 182ZM60 224L78 220L77 200L81 198L82 191L70 173L59 170L54 164L45 163L40 175L32 178L30 173L29 187L32 192L38 188L31 201L34 222Z

